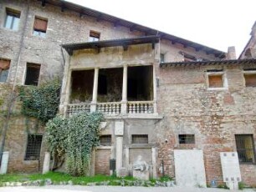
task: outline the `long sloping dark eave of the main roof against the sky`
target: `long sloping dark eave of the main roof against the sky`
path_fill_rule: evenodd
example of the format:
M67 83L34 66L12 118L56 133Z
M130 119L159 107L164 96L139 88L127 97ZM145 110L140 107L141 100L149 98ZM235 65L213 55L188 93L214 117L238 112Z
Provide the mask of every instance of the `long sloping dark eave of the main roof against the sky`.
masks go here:
M135 30L136 31L141 31L141 32L143 32L143 33L145 33L146 35L149 35L149 36L158 35L158 36L160 36L160 38L170 40L172 42L172 44L181 43L181 44L184 45L185 48L192 47L192 48L195 48L196 51L204 51L207 54L213 54L216 58L219 58L219 59L222 59L222 58L226 57L226 54L224 52L219 51L217 49L209 48L207 46L204 46L204 45L199 44L199 43L194 43L194 42L189 41L189 40L184 39L184 38L178 38L174 35L164 33L164 32L158 31L158 30L153 29L153 28L147 28L147 27L142 26L140 24L136 24L136 23L126 21L125 19L116 18L116 17L111 16L109 14L101 13L99 11L95 11L94 9L85 8L85 7L80 6L78 4L69 3L69 2L66 2L66 1L62 1L62 0L38 0L38 1L41 2L43 7L47 6L47 4L54 5L54 6L59 7L62 12L64 12L65 9L69 9L69 10L72 10L76 13L79 13L79 17L83 17L85 15L85 16L96 18L97 22L106 21L106 22L113 23L113 27L115 27L115 28L117 26L124 26L126 28L130 28L130 31L135 31Z

